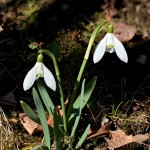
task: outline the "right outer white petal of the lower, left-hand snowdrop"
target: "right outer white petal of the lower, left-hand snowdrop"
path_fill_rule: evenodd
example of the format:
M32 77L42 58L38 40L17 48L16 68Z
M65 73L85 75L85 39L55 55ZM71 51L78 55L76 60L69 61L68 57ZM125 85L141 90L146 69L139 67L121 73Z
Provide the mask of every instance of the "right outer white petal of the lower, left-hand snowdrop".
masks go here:
M46 85L51 88L52 90L56 90L56 81L53 76L53 74L50 72L50 70L43 64L43 70L44 70L44 81Z

